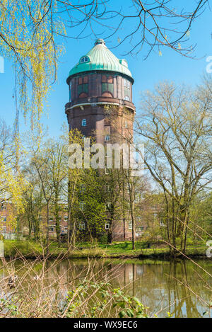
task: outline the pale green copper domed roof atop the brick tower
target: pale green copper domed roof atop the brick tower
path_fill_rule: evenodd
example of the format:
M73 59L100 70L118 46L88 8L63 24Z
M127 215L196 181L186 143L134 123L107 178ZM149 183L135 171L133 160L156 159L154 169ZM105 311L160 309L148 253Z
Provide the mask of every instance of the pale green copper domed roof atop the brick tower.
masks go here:
M83 55L79 62L69 71L69 76L93 70L117 71L132 79L126 60L118 59L107 48L103 39L96 40L95 46L86 55Z

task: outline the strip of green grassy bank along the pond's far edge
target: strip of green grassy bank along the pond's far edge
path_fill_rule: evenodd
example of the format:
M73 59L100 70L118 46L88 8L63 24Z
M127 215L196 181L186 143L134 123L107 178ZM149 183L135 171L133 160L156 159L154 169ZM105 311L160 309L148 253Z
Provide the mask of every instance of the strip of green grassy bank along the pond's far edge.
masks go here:
M26 258L35 258L45 254L45 247L34 241L4 241L4 256L15 257L23 255ZM146 248L142 242L136 242L135 250L131 250L131 242L115 242L114 244L79 244L75 247L67 248L66 245L58 246L52 241L49 245L49 256L57 258L170 258L168 246L152 245ZM205 246L189 246L187 256L192 258L206 258ZM179 254L179 257L180 256ZM183 258L183 257L182 257Z

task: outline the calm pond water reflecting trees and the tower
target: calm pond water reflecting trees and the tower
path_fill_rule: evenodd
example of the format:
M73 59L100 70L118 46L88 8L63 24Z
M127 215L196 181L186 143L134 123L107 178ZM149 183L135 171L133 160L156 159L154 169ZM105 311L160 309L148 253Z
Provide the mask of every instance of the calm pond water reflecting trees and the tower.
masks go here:
M148 307L150 316L167 317L167 311L174 317L208 317L212 314L207 304L212 302L212 261L151 261L151 260L64 260L54 266L55 273L65 280L83 278L89 269L98 280L110 281L112 287L124 287L124 292L138 297ZM16 261L13 268L23 274ZM49 270L54 261L47 261ZM37 273L40 273L39 264ZM22 272L18 272L22 271ZM34 272L35 273L35 270ZM53 272L54 274L54 272ZM6 276L0 269L0 278Z

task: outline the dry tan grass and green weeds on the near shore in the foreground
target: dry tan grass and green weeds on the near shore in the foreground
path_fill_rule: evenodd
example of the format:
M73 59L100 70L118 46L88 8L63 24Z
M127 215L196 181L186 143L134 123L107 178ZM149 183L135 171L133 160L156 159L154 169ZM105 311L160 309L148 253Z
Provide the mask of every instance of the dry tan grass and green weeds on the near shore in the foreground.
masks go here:
M63 255L54 261L48 258L43 254L30 261L18 252L16 258L1 258L0 317L147 316L139 299L110 284L122 263L110 270L102 263L96 269L96 260L88 258L76 275L74 261L63 268Z

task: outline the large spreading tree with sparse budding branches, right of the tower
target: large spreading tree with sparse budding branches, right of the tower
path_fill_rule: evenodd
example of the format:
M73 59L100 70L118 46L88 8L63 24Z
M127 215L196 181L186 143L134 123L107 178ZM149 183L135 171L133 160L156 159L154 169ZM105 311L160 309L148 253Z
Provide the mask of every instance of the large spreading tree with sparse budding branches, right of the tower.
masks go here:
M163 83L143 96L136 132L146 147L144 164L167 202L167 238L185 252L192 202L211 183L211 93Z

